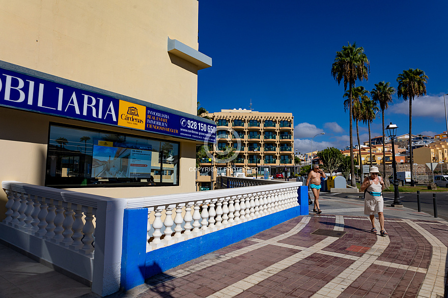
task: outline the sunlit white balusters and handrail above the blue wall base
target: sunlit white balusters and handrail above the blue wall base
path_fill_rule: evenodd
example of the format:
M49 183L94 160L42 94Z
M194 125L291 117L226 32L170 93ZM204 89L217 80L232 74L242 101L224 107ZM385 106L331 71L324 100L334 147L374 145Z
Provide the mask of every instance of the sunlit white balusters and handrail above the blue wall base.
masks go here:
M128 207L149 208L147 251L151 251L297 206L297 188L295 183L283 183L153 196L147 202L133 198Z

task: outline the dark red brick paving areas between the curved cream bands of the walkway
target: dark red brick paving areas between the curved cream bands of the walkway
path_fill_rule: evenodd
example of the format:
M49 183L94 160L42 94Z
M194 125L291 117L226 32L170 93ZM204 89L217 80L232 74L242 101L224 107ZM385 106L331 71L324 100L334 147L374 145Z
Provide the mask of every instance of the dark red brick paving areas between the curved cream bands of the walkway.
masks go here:
M302 217L298 217L288 221L288 228L279 225L255 235L254 238L272 239L288 232L301 219ZM325 236L310 233L318 228L333 229L334 222L334 217L312 217L305 228L281 243L310 247L325 239ZM314 253L298 261L246 289L237 297L312 296L354 262L347 258L326 255L325 251L362 256L376 242L377 235L370 232L370 221L345 219L344 223L344 231L347 233L323 249L322 253ZM442 224L421 226L448 245L448 226ZM379 227L377 229L379 231ZM421 234L401 220L386 221L386 230L390 235L390 244L378 260L428 268L432 246ZM214 254L224 255L251 244L255 242L245 240L218 250ZM181 278L173 277L174 279L160 283L138 297L206 297L297 252L299 252L297 249L267 245ZM165 275L169 276L170 272L180 268L187 269L188 266L201 261L203 259L192 260L167 271ZM424 278L424 273L372 264L339 297L416 297Z

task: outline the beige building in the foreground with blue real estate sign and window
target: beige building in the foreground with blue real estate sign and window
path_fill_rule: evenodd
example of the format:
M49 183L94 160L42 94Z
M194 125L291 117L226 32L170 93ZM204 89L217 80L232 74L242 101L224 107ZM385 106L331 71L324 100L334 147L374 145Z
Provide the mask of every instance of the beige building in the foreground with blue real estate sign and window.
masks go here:
M195 190L195 146L216 130L195 116L198 71L211 66L197 0L0 6L0 181L111 197Z

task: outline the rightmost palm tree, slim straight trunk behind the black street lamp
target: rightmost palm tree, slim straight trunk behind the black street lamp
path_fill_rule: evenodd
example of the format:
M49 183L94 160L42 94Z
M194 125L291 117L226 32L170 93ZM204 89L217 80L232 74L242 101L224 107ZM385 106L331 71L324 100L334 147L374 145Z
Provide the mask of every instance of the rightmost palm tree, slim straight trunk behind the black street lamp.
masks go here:
M414 186L413 177L413 159L412 159L412 100L414 97L426 95L426 86L428 76L420 69L404 70L397 77L398 98L403 97L406 101L409 99L409 162L411 164L411 186Z

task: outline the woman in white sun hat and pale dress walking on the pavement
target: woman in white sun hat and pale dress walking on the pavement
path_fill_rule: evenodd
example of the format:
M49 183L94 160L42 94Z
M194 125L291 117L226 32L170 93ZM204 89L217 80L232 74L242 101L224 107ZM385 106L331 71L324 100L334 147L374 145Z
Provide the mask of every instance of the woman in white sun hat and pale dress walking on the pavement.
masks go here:
M370 168L370 176L364 179L361 185L361 191L364 192L364 214L370 217L372 222L372 233L376 233L375 228L375 214L378 214L378 221L380 222L380 234L381 236L387 236L387 232L384 229L384 214L383 214L383 194L384 181L378 176L379 170L377 167Z

